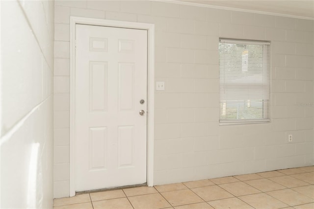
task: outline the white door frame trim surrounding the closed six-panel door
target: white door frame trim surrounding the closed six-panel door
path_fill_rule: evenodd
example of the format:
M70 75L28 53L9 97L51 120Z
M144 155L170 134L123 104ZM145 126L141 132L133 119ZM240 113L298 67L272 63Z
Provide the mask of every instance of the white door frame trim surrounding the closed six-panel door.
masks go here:
M147 30L147 165L146 183L153 186L154 175L154 98L155 98L155 25L125 21L70 17L70 197L75 196L75 100L76 100L76 25L123 27Z

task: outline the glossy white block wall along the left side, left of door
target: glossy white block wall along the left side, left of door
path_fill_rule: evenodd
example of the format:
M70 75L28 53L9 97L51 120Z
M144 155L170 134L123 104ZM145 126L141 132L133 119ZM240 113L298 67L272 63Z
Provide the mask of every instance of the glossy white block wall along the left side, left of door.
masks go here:
M0 208L52 208L53 1L1 0Z

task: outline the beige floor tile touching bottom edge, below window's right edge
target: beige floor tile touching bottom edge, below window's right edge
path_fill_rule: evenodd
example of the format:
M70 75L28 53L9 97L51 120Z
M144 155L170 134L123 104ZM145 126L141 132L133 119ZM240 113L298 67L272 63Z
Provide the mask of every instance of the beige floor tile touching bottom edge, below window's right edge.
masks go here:
M239 197L241 200L253 206L255 209L280 209L288 207L287 204L265 194L251 194Z

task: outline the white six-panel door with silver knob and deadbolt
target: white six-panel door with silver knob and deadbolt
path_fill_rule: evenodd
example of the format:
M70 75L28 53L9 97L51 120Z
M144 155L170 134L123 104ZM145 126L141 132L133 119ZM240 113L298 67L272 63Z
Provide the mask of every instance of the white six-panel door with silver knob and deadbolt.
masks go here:
M76 25L75 73L76 191L146 183L147 30Z

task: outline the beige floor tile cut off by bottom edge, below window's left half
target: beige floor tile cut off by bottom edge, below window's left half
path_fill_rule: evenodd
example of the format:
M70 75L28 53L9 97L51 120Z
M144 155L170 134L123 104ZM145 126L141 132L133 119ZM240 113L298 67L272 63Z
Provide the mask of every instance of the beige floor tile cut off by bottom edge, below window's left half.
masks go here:
M214 200L208 203L215 209L253 209L253 207L249 206L236 197L223 200Z

